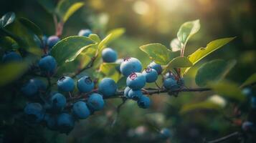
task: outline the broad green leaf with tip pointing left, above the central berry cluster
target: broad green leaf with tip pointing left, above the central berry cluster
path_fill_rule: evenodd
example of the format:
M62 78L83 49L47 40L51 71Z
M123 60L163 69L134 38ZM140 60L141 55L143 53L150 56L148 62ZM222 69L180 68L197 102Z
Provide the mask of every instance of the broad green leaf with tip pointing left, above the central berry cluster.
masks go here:
M148 54L149 58L157 64L166 65L171 60L172 52L163 44L146 44L140 46L140 49Z

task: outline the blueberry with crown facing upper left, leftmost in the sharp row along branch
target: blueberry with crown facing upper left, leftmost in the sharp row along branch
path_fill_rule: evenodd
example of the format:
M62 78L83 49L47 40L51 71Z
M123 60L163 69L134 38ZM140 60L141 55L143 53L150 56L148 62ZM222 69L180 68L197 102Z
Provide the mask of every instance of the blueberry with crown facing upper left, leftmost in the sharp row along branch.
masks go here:
M57 86L62 92L72 92L75 88L75 83L71 77L61 77L57 81Z

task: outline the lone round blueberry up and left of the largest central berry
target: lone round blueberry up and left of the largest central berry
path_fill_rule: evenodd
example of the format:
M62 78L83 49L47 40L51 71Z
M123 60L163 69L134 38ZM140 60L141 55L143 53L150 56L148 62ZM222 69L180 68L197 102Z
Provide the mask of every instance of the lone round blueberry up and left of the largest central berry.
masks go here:
M102 51L104 62L115 62L118 59L118 54L111 48L105 48Z

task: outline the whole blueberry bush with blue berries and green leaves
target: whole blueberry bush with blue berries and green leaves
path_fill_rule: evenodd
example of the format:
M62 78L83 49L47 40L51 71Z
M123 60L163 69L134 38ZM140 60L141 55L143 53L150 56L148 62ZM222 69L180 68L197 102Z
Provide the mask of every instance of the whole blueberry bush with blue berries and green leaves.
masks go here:
M209 98L194 103L186 102L179 109L173 108L171 114L179 114L178 118L198 110L234 112L224 118L236 125L236 132L223 134L223 137L215 137L217 139L214 140L205 138L201 142L224 142L230 138L235 138L235 142L256 142L256 74L247 75L248 79L242 84L236 83L225 77L237 60L199 62L236 37L215 39L186 55L189 39L200 29L199 20L187 21L179 27L170 47L160 43L140 46L139 49L148 55L144 58L151 60L150 63L142 63L133 55L120 57L117 51L108 46L125 33L123 28L110 30L106 34L81 29L77 35L62 36L65 23L84 6L83 2L61 0L57 5L48 0L38 2L53 16L55 33L51 36L45 35L42 32L44 29L33 21L17 17L14 12L7 12L0 19L0 86L1 96L4 97L0 118L2 142L49 142L44 136L52 136L51 142L62 142L59 138L53 141L54 137L72 134L74 129L80 128L76 124L99 116L102 119L90 120L91 124L87 124L89 137L70 141L97 142L90 138L95 134L99 138L111 134L121 124L118 122L131 122L129 118L143 116L133 113L137 110L134 108L121 115L125 103L136 103L137 107L148 110L160 95L179 99L182 92L211 92L214 95L210 94ZM194 74L198 87L191 87L186 83L186 74L195 65L199 66ZM108 107L113 107L108 103L110 100L118 100L115 102L118 103L115 113L108 111ZM162 103L158 101L158 104ZM228 108L225 108L226 104L229 104ZM99 112L105 112L105 115ZM104 116L107 119L103 119ZM125 116L127 120L122 121L120 116ZM198 113L188 118L194 116L198 116ZM151 118L156 122L160 119ZM149 121L139 122L153 124ZM176 121L172 126L175 123L182 124ZM90 126L92 124L94 126ZM110 129L105 133L98 132L97 127L93 128L97 124L110 126ZM209 124L215 124L215 121L209 121ZM131 138L136 142L181 142L181 136L172 126L154 127L156 129L151 130L155 132L148 132L145 137L145 134L134 132L128 132L130 136L123 136L127 137L126 142L131 142ZM26 132L11 137L11 134L19 134L22 129ZM138 132L143 129L136 128Z

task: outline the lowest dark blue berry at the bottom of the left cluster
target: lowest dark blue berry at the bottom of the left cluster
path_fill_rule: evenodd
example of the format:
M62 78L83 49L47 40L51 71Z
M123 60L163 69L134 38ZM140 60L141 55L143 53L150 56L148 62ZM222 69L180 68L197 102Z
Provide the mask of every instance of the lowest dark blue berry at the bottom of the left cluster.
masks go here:
M62 113L57 117L57 127L61 133L69 133L75 126L75 121L70 114Z

